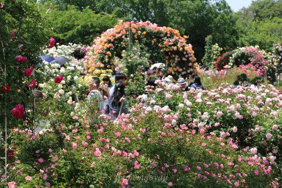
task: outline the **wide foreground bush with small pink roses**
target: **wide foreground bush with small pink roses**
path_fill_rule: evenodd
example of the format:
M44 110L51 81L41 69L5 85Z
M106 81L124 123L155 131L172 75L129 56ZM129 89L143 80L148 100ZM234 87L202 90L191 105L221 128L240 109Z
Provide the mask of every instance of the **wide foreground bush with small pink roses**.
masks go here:
M96 121L80 116L82 124L77 127L58 126L34 138L14 131L13 137L21 137L32 149L23 150L26 144L18 147L18 162L13 164L17 170L11 171L9 182L23 187L278 185L272 175L275 168L265 160L237 150L232 139L196 134L185 124L176 128L172 124L176 116L168 107L138 104L130 112L115 122L105 115ZM56 143L62 146L44 144L54 136L60 137ZM26 163L22 152L36 162Z

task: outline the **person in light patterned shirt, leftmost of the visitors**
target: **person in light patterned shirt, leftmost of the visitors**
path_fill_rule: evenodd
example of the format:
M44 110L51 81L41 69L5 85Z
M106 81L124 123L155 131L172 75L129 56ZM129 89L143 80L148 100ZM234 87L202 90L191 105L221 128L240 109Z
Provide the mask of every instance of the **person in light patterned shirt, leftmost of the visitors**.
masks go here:
M102 107L102 101L103 101L103 97L99 91L99 85L100 85L100 79L98 77L92 77L92 79L90 80L88 87L89 87L89 94L87 97L88 102L97 102L99 104L99 108L100 110L103 109Z

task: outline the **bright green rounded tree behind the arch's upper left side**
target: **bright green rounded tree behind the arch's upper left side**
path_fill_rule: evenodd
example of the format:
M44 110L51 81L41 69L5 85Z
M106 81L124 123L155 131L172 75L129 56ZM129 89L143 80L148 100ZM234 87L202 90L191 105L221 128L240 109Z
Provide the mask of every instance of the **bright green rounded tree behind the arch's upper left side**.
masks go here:
M113 14L96 14L89 7L80 11L75 6L67 6L63 11L54 6L47 16L47 22L54 28L53 37L58 42L77 44L90 44L103 31L112 28L117 20Z

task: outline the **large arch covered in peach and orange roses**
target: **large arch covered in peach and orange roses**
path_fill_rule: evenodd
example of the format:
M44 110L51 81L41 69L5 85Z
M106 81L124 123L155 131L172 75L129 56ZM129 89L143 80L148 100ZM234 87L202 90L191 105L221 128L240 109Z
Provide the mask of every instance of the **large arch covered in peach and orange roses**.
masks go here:
M88 60L88 73L114 66L117 53L128 46L129 23L119 21L114 28L94 39L85 57ZM167 74L184 76L193 70L193 62L196 60L194 51L191 44L186 43L188 37L182 37L178 30L159 27L149 21L131 21L131 31L132 45L141 44L154 54L154 58L158 56L157 62L165 63L168 67Z

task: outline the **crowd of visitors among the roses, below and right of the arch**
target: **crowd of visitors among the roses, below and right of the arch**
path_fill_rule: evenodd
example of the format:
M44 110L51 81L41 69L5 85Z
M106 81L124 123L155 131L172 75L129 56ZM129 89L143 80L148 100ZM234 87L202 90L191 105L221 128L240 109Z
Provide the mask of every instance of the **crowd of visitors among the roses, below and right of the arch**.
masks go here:
M225 67L225 73L230 71L230 67ZM207 70L207 67L202 67L202 70ZM179 78L177 81L173 79L173 76L168 75L167 77L158 74L161 72L158 67L153 67L150 69L149 66L145 67L145 75L152 75L147 81L147 85L155 92L156 89L156 80L161 79L168 89L173 88L173 85L177 85L180 91L189 91L194 89L197 93L202 92L204 86L201 83L201 78L197 73L191 74L191 81L188 83L187 79ZM111 77L115 78L115 84L111 82L108 76L103 77L103 85L100 85L100 79L98 77L93 77L89 83L90 93L88 95L88 101L99 102L100 110L104 110L104 114L111 117L115 120L121 114L129 113L129 104L126 99L125 93L125 80L126 76L123 73L115 72ZM234 82L234 88L241 86L249 86L255 90L259 89L259 83L261 83L263 78L261 76L256 76L251 81L251 85L248 85L248 77L246 74L240 74L237 77L237 80ZM175 87L174 87L175 88ZM102 94L101 94L102 92ZM144 93L140 96L142 101L148 100L148 93ZM154 96L152 97L154 98ZM154 99L150 99L154 100Z

